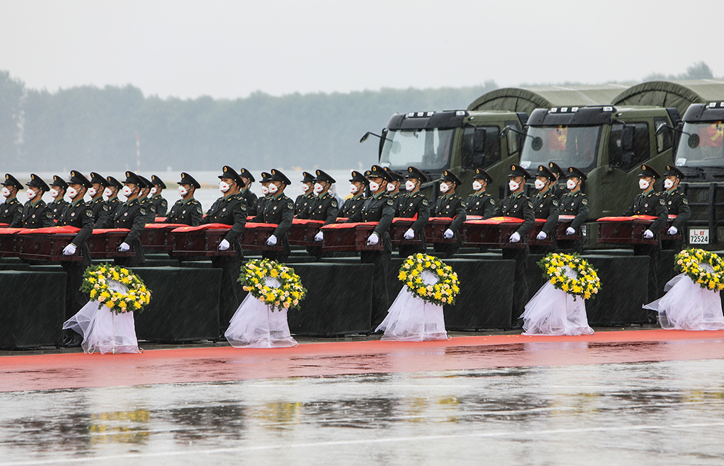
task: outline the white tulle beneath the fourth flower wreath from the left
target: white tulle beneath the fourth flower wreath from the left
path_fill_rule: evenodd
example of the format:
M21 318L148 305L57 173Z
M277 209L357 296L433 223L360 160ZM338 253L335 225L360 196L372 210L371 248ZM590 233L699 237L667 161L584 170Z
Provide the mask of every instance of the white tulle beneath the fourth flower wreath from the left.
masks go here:
M565 274L576 276L570 267ZM574 299L575 298L575 299ZM586 301L573 297L547 281L526 304L523 318L523 335L592 335L588 324Z

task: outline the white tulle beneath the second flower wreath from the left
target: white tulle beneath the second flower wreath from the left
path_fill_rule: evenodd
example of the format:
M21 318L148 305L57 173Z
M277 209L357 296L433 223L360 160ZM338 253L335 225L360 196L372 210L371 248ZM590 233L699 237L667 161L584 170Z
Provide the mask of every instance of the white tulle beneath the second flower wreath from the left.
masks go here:
M269 287L279 287L277 279L266 279ZM224 333L235 348L295 347L287 322L287 310L271 310L269 305L253 297L251 293L234 313L229 328Z

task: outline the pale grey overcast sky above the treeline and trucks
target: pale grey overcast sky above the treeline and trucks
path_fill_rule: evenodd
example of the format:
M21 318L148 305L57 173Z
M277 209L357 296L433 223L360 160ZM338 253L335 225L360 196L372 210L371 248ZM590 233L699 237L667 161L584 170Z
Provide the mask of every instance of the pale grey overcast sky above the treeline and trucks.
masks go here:
M724 75L724 1L0 0L29 88L197 98Z

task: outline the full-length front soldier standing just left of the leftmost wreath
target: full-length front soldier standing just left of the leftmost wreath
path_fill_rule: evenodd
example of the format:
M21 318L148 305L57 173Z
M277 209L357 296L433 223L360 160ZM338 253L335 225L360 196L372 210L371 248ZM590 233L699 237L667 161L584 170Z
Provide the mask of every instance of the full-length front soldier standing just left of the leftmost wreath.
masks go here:
M80 291L80 285L83 284L83 273L90 266L90 250L88 249L88 238L93 234L93 207L90 203L85 202L83 197L88 189L93 187L93 183L88 181L80 171L71 171L68 180L67 195L70 198L70 204L63 212L63 215L57 220L57 226L75 226L80 228L80 232L75 234L75 238L63 249L63 255L75 255L80 253L83 260L70 261L63 260L60 265L66 274L65 279L65 319L70 319L80 308L83 308L88 297ZM67 330L65 334L64 344L67 347L79 347L82 338L75 331Z

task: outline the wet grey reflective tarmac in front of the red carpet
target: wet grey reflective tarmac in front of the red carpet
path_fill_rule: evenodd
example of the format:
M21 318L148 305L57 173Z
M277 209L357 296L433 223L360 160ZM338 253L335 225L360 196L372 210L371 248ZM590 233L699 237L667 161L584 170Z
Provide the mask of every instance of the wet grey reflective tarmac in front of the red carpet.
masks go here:
M0 393L0 406L0 465L720 465L724 457L723 360L14 391Z

